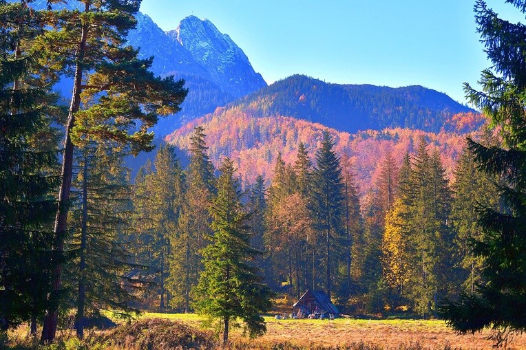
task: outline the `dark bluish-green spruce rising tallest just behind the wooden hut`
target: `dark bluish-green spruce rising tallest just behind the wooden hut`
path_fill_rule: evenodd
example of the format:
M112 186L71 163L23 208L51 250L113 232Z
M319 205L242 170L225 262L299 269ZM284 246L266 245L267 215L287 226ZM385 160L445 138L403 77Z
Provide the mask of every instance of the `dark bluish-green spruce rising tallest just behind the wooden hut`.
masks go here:
M311 212L315 230L324 236L325 288L330 298L337 261L341 256L344 239L344 184L341 177L339 157L333 151L334 142L324 132L321 147L316 151L316 167L313 171ZM332 259L332 260L331 260Z

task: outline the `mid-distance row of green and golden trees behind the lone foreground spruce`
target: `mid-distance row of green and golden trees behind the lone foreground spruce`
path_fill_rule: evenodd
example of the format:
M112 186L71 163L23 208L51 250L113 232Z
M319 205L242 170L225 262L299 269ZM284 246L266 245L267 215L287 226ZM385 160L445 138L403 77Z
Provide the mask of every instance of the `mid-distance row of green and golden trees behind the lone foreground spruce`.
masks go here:
M490 142L490 136L486 138ZM156 270L162 308L191 310L191 289L202 271L200 251L211 234L207 198L214 193L204 141L202 127L196 127L189 168L182 171L172 160L171 180L162 175L169 172L154 170L169 146L160 149L155 166L147 164L136 179L136 208L162 212L162 202L144 202L144 196L160 198L154 193L171 194L164 208L177 204L170 215L145 220L157 225L153 232L165 232L158 241L165 242L165 248L152 245L142 261L147 265L154 254L161 256ZM498 207L496 179L478 172L472 153L464 149L450 184L439 151L425 138L401 164L386 153L379 168L372 189L360 198L352 158L338 155L324 133L314 155L300 143L293 164L278 154L272 179L258 176L254 184L246 184L252 242L264 252L253 265L275 292L298 298L306 289L323 289L348 312L408 311L421 316L436 316L446 298L474 293L482 263L471 252L481 232L477 208ZM158 225L169 217L172 230Z

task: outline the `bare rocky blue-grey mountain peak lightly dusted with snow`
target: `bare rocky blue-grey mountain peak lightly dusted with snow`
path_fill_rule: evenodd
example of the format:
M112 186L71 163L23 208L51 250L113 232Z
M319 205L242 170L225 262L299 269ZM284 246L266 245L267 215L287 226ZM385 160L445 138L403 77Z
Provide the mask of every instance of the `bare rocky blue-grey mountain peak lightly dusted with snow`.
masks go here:
M216 85L235 98L266 86L244 52L230 36L222 34L211 21L195 16L183 19L176 30L167 32L174 43L185 47Z

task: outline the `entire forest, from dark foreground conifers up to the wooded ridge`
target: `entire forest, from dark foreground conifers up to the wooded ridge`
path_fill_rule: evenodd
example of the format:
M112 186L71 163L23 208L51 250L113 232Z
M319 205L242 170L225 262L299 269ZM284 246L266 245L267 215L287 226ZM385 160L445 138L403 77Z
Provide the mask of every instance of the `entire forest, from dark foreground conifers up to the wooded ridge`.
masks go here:
M217 102L127 45L140 1L44 2L0 0L0 348L151 312L221 347L274 315L526 329L523 24L476 2L474 109L301 75ZM338 312L291 314L309 290Z

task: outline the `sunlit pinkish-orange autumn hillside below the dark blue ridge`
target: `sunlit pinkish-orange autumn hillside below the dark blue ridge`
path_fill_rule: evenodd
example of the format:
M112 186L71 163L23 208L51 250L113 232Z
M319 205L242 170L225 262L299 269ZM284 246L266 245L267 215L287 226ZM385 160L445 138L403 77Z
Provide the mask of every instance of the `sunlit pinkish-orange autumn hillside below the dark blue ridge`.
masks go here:
M351 134L286 116L258 117L258 111L239 106L219 108L215 113L189 122L168 135L166 140L180 149L188 149L193 128L200 125L207 134L209 155L215 166L220 164L222 157L231 157L244 182L253 183L257 175L263 175L265 179L273 177L278 153L284 162L293 164L299 142L305 144L312 157L322 140L323 131L328 130L335 141L335 150L353 159L357 185L364 194L377 177L381 156L391 151L397 162L401 162L406 152L414 151L414 144L422 135L431 147L439 149L451 177L456 157L464 146L465 132L476 131L484 122L483 116L469 112L443 120L443 130L438 133L397 127Z

